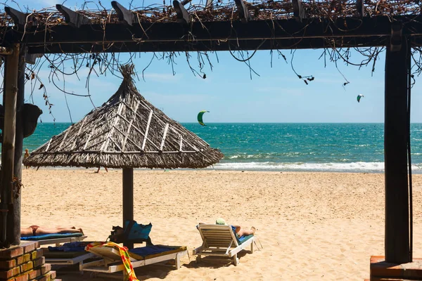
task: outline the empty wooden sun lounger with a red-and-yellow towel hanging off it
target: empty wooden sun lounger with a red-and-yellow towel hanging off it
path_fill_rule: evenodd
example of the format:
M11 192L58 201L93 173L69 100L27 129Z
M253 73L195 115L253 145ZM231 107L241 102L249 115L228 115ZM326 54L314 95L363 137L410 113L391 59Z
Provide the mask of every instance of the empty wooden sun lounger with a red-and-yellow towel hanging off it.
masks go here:
M117 249L113 247L94 247L89 249L89 252L100 256L101 260L80 263L79 270L97 273L115 273L124 270L122 258ZM186 247L155 245L130 249L129 256L133 268L174 260L174 266L179 269L181 265L180 258L187 252Z

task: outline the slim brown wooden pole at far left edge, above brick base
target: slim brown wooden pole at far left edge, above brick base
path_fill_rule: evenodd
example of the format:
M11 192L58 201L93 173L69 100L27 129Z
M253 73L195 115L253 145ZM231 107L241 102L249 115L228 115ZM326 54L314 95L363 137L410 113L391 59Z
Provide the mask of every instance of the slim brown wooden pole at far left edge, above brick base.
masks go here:
M9 236L6 224L7 210L13 195L13 166L15 158L16 99L18 96L19 45L13 46L13 53L6 57L4 80L4 129L1 146L1 242L8 247L13 238ZM5 215L6 214L6 215Z

